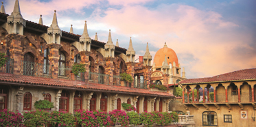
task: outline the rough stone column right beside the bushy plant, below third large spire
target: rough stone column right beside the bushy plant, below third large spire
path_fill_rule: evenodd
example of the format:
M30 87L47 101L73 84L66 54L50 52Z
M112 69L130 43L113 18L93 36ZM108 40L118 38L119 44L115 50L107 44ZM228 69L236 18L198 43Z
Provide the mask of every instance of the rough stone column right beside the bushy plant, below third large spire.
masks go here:
M90 66L89 57L90 57L91 52L89 52L89 51L80 51L79 54L81 56L80 64L85 65L84 81L86 83L88 83L88 81L89 81L89 79L88 79L89 78L89 66Z

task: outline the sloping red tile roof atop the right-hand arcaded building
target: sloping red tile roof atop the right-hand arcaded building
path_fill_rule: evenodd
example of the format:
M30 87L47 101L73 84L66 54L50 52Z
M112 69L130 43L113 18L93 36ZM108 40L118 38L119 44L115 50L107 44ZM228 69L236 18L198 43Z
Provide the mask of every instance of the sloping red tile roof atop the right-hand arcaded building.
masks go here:
M235 72L220 74L213 77L186 79L179 83L181 84L210 83L210 82L222 82L222 81L240 81L240 80L248 80L248 79L256 80L256 68L237 70Z

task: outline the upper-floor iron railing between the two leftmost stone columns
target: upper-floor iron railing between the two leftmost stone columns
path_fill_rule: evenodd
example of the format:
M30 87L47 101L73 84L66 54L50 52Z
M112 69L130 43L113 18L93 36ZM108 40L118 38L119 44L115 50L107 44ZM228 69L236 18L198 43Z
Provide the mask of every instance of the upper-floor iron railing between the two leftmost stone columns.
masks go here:
M51 66L44 64L38 64L32 61L21 61L21 75L27 76L40 76L51 78Z

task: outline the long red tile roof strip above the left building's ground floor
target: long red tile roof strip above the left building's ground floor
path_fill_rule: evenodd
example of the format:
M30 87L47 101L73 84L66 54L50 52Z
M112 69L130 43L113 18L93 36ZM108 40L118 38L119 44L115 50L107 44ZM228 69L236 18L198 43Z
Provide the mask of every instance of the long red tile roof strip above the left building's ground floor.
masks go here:
M138 89L132 87L122 87L115 85L102 85L97 83L88 83L82 81L71 81L67 79L49 79L37 76L24 76L8 73L0 73L0 83L10 83L15 85L37 85L37 86L51 86L62 87L61 89L84 89L92 91L109 91L109 92L123 92L127 94L148 94L148 96L164 96L167 98L175 98L172 94L161 91L150 91L148 89Z

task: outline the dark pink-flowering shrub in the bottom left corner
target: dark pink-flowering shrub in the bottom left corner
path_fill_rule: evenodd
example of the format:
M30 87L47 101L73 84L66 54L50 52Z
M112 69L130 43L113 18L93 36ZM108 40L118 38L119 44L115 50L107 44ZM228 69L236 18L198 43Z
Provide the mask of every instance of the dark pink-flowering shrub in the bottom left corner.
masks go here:
M12 111L8 111L7 109L3 109L0 111L0 126L10 126L10 127L21 127L23 116L21 113L14 113Z

